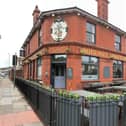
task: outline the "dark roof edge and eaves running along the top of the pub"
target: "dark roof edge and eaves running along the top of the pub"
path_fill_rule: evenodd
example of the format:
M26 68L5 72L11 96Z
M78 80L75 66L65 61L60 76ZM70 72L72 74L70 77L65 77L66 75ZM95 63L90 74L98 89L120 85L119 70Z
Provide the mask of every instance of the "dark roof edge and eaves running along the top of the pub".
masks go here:
M40 26L41 21L44 20L45 17L51 16L53 14L55 15L59 15L59 14L70 14L70 13L76 13L76 14L80 14L80 16L83 17L87 17L97 23L100 23L101 25L104 25L106 28L111 28L112 30L116 31L118 34L120 35L126 35L126 32L124 32L123 30L121 30L120 28L112 25L111 23L107 22L106 20L103 20L99 17L96 17L78 7L71 7L71 8L63 8L63 9L55 9L55 10L50 10L50 11L44 11L40 14L38 22L33 26L33 28L31 29L28 37L26 38L23 46L29 42L29 40L31 39L33 33L36 31L36 29ZM23 47L22 46L22 47Z

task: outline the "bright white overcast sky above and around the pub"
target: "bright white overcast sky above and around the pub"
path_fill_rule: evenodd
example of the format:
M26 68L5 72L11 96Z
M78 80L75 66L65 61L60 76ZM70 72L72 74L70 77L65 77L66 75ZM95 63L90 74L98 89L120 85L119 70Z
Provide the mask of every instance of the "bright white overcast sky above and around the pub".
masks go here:
M126 31L126 0L109 0L108 22ZM0 68L12 65L33 26L32 12L77 6L97 16L96 0L0 0Z

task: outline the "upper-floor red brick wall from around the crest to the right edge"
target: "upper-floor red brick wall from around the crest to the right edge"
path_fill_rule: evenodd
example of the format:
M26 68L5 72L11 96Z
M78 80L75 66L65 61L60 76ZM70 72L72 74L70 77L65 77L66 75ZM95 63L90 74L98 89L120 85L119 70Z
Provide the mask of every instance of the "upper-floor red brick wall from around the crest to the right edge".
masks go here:
M116 32L112 29L98 24L94 21L86 19L85 17L77 16L77 14L62 15L63 19L68 25L68 34L61 42L86 42L86 22L92 22L96 24L96 45L98 47L106 48L115 51L114 40ZM51 25L56 17L48 17L43 22L43 43L54 43L50 34ZM126 39L125 39L126 40ZM126 41L122 36L122 52L126 51Z

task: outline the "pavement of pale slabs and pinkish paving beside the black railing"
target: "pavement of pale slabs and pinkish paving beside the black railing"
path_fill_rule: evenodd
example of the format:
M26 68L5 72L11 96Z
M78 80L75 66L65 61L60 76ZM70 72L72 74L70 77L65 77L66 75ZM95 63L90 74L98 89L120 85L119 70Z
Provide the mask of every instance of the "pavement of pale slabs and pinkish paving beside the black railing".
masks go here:
M8 78L0 78L0 126L44 126Z

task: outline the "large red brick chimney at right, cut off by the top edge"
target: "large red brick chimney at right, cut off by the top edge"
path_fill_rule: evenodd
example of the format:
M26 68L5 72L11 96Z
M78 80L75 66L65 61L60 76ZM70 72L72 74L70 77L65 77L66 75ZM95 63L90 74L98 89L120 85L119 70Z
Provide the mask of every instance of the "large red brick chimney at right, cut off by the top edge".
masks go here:
M108 0L96 0L98 3L97 5L97 14L98 17L108 21Z

